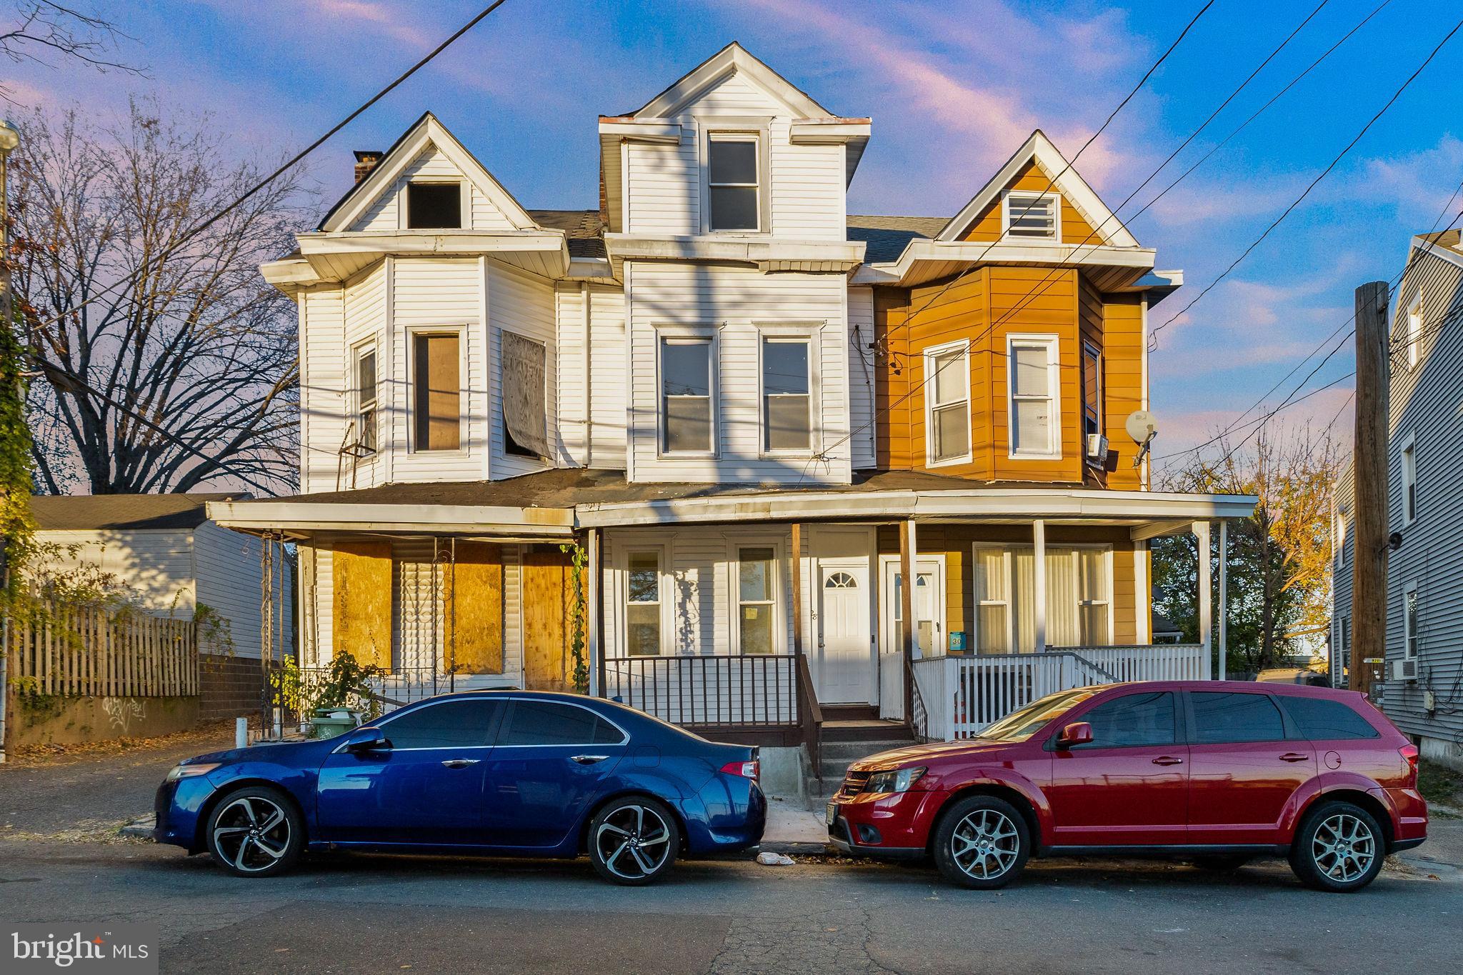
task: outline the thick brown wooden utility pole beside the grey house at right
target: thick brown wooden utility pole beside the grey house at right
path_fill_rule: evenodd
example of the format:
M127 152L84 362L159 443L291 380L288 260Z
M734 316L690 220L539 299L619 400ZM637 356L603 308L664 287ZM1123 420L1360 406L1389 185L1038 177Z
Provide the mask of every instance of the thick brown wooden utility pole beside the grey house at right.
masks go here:
M1356 545L1350 688L1371 697L1387 659L1387 284L1356 289Z

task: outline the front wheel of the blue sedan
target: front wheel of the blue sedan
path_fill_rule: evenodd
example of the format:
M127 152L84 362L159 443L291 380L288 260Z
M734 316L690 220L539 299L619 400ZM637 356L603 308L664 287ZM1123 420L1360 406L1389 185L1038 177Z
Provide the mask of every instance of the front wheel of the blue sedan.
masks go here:
M208 817L208 852L236 877L272 877L300 858L304 823L282 792L252 785L230 792Z

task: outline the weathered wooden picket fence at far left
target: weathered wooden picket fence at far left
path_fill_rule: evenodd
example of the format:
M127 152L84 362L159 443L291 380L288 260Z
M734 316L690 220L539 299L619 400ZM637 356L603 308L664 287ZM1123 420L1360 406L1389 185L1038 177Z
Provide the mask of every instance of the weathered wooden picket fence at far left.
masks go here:
M10 621L9 677L60 697L171 697L199 693L198 631L104 607L51 605ZM34 681L34 684L32 684Z

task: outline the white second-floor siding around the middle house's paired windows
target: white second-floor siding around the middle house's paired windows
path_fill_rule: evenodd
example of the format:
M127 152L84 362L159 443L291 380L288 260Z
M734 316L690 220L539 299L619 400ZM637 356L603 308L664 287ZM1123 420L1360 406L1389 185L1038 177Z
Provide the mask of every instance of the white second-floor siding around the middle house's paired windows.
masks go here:
M625 265L633 370L632 479L726 482L847 482L847 341L843 275L762 275L724 266ZM819 373L811 456L765 456L762 444L759 325L809 325ZM658 327L711 326L718 333L718 409L714 459L660 455ZM837 444L837 446L835 446Z

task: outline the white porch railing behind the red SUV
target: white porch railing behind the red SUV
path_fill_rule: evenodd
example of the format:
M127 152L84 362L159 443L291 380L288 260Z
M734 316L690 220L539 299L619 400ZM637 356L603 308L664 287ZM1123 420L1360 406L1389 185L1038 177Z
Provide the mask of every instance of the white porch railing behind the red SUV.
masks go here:
M970 738L1033 700L1072 687L1138 680L1207 680L1204 648L1107 646L999 656L932 656L914 661L925 706L923 734L936 741ZM879 658L879 715L904 718L898 653Z

